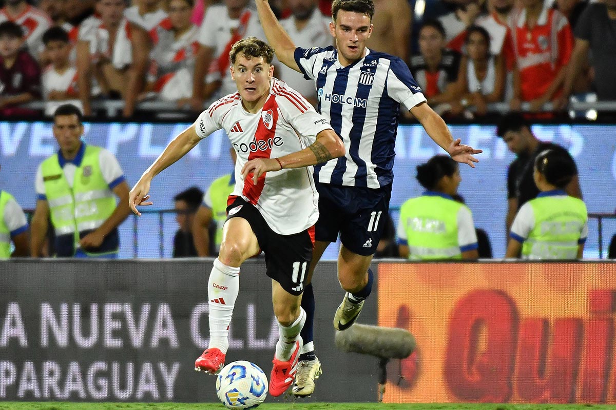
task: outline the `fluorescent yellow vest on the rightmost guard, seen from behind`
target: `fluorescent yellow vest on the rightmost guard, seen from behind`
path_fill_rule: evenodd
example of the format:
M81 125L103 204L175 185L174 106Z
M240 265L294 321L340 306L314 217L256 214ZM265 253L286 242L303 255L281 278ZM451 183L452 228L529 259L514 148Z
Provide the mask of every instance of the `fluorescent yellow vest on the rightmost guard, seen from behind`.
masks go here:
M525 259L577 259L578 240L588 220L585 203L565 195L546 195L529 201L535 227L522 245Z

